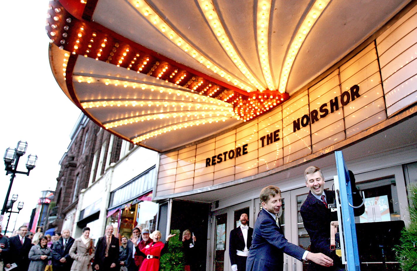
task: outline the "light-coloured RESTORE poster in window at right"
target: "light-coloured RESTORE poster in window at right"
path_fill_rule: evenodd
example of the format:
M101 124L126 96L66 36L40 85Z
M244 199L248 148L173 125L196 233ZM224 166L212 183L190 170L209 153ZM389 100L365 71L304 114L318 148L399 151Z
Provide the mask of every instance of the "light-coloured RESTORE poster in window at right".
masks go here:
M391 221L388 196L365 198L365 213L359 217L360 223Z

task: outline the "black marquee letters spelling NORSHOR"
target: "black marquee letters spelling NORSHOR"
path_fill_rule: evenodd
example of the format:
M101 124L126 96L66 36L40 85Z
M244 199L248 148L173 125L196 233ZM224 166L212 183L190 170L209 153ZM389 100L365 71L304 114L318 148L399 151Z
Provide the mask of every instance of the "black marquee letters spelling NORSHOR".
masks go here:
M350 88L350 92L349 91L344 91L342 93L342 96L340 96L340 104L342 106L346 106L347 104L349 104L350 101L354 101L356 98L359 98L360 94L359 94L359 86L358 85L354 85ZM329 101L329 107L330 107L330 113L333 113L334 111L339 110L339 97L336 96L334 97L334 99ZM320 111L320 114L319 114ZM301 129L301 127L306 127L307 125L313 124L314 122L318 122L319 121L319 117L320 119L323 119L324 117L326 117L329 114L329 109L327 108L327 103L324 103L320 106L319 111L317 111L316 109L311 110L310 114L305 114L303 117L301 117L301 121L300 118L294 120L293 122L293 131L294 133L296 131L298 131L299 129ZM300 127L301 124L301 127ZM264 147L262 145L262 147Z

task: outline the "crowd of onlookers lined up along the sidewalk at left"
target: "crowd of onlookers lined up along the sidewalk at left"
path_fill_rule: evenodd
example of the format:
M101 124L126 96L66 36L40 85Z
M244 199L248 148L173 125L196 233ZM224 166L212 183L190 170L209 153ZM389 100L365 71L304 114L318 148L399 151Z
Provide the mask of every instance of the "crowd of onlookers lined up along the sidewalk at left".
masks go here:
M0 271L158 271L159 261L167 251L167 243L175 234L161 241L161 232L153 231L152 238L147 228L133 228L131 238L113 235L113 226L108 225L105 235L94 246L90 228L85 227L79 238L72 238L70 230L54 236L28 232L21 226L15 235L8 238L0 234ZM1 225L0 225L1 232ZM189 230L183 232L186 271L196 271L195 242Z

